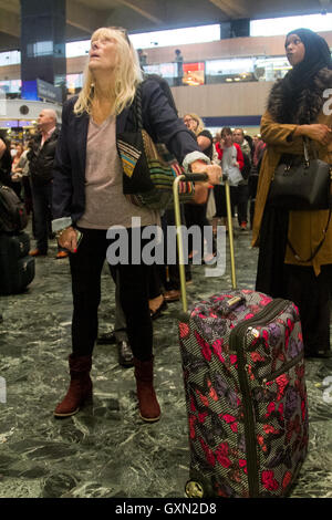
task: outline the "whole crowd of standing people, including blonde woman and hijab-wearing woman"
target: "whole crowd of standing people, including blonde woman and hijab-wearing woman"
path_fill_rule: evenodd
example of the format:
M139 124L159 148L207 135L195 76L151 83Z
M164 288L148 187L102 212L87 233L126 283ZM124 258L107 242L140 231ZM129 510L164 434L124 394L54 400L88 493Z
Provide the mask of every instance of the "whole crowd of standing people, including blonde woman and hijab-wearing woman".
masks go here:
M299 305L305 353L315 356L330 354L329 211L279 210L277 215L268 205L268 191L282 154L301 154L303 135L311 138L313 152L329 160L332 121L322 114L323 90L332 86L331 54L326 48L324 40L309 30L300 29L287 37L287 55L293 69L271 91L261 135L250 136L243 128L224 127L212 136L197 114L187 113L179 118L154 79L144 81L142 89L143 124L149 135L166 144L191 171L208 173L208 183L195 183L201 204L196 200L183 205L184 223L201 229L211 225L215 231L218 225L227 226L227 179L238 230L252 229L253 245L260 248L257 289L291 299ZM0 142L1 180L24 198L28 210L33 208L37 247L30 254L46 256L49 239L55 235L56 258L69 257L70 261L74 305L73 350L69 356L71 383L55 408L56 417L75 414L92 396L90 371L98 337L101 271L112 243L106 230L120 225L132 233L132 217L137 216L141 232L149 225L173 223L173 210L160 215L134 206L123 194L117 138L120 132L134 129L128 106L143 80L137 53L124 30L103 28L93 33L85 72L80 95L64 104L61 127L55 113L44 110L38 119L40 132L27 149L18 144L11 157L4 141ZM107 204L110 200L112 204ZM278 227L280 221L282 226ZM310 258L323 230L324 243ZM281 231L277 266L274 241ZM287 237L297 254L289 248ZM144 243L142 239L142 248ZM203 261L209 261L216 253L215 243L205 252L204 243L200 251L191 245L189 258L201 254ZM117 315L112 337L100 337L117 343L122 365L134 365L139 414L145 422L158 420L160 416L153 383L153 320L167 303L180 299L177 266L165 268L144 262L110 266L116 285ZM186 266L186 279L191 281L190 264Z

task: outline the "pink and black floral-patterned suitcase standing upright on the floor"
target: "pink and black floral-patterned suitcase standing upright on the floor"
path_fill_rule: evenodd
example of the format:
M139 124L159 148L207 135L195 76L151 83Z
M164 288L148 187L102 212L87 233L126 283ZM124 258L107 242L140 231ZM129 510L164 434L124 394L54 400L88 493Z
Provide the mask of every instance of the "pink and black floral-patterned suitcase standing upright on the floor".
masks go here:
M282 497L308 450L301 322L287 300L236 290L179 323L187 497Z

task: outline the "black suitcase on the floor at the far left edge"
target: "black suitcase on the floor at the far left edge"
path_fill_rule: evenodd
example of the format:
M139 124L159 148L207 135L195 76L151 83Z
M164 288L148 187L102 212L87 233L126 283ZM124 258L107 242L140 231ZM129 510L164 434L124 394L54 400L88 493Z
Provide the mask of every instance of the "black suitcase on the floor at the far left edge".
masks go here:
M34 258L29 257L30 238L24 231L0 235L0 294L23 292L34 279Z

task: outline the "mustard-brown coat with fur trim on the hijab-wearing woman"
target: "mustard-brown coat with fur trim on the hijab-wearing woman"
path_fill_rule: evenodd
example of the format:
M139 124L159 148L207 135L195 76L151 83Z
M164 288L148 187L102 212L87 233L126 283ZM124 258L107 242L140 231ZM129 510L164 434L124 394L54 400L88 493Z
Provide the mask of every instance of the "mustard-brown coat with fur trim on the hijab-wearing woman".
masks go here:
M322 94L326 89L332 89L332 71L323 69L314 81L313 87L304 90L298 103L297 111L292 114L292 123L277 123L289 121L289 114L282 114L282 86L281 82L273 85L269 100L268 111L261 119L261 136L267 143L267 150L262 160L258 191L256 197L256 209L252 227L252 246L259 246L259 232L262 216L270 189L270 183L282 154L303 154L302 137L288 137L295 131L299 124L321 123L332 127L332 115L324 114L323 105L332 112L332 96L330 102ZM321 143L312 142L320 159L332 164L332 143L323 146ZM309 258L320 243L329 218L328 210L318 211L290 211L288 238L301 258ZM326 238L318 254L311 262L301 262L295 259L290 248L287 247L286 263L297 266L313 266L318 275L323 264L332 263L332 218L328 228Z

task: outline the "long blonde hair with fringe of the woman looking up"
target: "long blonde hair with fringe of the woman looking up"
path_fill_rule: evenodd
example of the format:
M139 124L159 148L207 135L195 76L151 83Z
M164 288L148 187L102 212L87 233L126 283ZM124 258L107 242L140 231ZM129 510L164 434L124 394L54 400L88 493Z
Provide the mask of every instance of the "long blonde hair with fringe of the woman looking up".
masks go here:
M127 33L122 28L100 28L91 37L91 41L100 38L112 38L117 48L117 65L114 70L114 81L110 81L110 98L114 98L115 114L120 114L134 100L136 86L142 82L137 53L129 41ZM83 112L91 114L92 100L94 97L94 80L85 65L83 89L74 105L74 113L81 115Z

